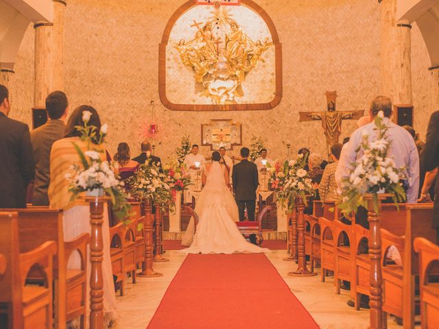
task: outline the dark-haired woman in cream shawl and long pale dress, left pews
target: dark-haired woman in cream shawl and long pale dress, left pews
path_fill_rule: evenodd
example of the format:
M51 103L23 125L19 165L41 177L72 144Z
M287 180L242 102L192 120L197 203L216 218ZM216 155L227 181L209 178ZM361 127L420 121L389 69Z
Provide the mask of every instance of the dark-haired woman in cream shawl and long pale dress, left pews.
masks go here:
M92 138L92 143L95 145L88 145L86 141L82 141L80 136L81 132L77 126L84 125L84 115L90 115L85 113L88 111L91 116L88 121L88 125L96 127L95 136ZM87 151L88 147L93 147L102 151L102 160L106 160L105 149L102 145L97 145L99 141L101 130L101 121L99 114L95 108L91 106L80 106L76 108L69 121L67 122L65 137L56 141L52 146L50 153L50 184L49 184L49 201L50 208L64 210L63 224L64 224L64 240L70 241L82 233L90 233L90 208L81 199L71 200L71 194L69 193L69 181L66 178L67 174L71 174L72 164L76 164L82 167L82 162L78 156L78 151L75 149L75 145L80 147L82 151ZM105 205L106 207L106 205ZM108 223L108 209L104 210L104 224L102 225L102 236L104 241L104 260L102 262L102 276L104 278L104 320L107 327L111 326L117 320L116 311L116 295L115 286L112 280L112 268L110 259L110 226ZM88 257L90 252L88 252ZM90 259L88 258L88 262ZM68 267L71 269L80 268L81 260L78 254L72 254L69 258ZM91 263L88 263L87 271L90 275ZM90 280L87 280L89 282ZM90 289L90 287L87 287ZM88 290L87 290L88 291ZM87 299L90 295L89 291L86 293ZM89 305L88 300L86 303ZM90 310L87 310L89 312Z

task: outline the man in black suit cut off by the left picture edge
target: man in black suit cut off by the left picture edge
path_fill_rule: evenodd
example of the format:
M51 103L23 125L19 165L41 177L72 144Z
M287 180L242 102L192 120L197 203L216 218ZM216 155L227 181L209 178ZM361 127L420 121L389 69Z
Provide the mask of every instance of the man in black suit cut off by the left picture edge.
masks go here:
M29 127L9 119L9 112L9 91L0 84L0 208L26 208L35 170Z

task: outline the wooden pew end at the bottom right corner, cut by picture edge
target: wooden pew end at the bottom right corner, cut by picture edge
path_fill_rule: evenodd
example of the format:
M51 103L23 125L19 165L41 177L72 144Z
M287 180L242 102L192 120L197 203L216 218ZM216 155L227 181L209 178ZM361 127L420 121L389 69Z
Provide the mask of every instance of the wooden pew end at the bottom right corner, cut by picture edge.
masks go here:
M429 282L431 269L439 267L439 246L416 238L414 250L419 253L420 324L423 329L439 328L439 283Z

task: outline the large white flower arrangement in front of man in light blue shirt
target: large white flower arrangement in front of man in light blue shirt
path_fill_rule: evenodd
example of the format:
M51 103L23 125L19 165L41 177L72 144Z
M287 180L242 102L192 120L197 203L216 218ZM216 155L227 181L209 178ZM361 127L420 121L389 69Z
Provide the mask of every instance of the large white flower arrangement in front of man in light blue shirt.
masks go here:
M361 158L351 164L351 170L342 179L342 193L338 207L345 215L356 212L359 206L366 207L365 193L374 195L374 210L379 212L377 193L391 193L395 204L405 202L402 180L406 180L405 168L396 168L392 158L388 157L391 141L386 132L388 125L383 121L384 114L379 112L375 118L375 131L378 136L368 141L364 132L358 151L363 151Z

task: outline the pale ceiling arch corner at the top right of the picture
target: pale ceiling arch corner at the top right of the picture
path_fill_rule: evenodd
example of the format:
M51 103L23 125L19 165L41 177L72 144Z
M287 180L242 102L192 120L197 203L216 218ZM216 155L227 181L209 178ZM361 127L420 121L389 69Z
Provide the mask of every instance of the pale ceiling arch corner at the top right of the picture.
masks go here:
M439 0L398 0L396 19L402 23L416 22L431 66L439 66Z

